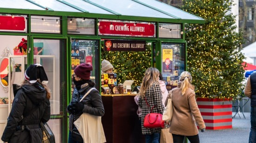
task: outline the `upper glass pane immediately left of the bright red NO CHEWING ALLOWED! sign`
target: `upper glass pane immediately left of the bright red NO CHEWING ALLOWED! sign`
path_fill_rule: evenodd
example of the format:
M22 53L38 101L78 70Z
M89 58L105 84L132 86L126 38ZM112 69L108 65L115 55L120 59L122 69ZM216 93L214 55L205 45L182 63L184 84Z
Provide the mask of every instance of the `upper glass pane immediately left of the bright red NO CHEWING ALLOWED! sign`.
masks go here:
M95 20L94 19L70 19L67 20L68 34L95 34Z

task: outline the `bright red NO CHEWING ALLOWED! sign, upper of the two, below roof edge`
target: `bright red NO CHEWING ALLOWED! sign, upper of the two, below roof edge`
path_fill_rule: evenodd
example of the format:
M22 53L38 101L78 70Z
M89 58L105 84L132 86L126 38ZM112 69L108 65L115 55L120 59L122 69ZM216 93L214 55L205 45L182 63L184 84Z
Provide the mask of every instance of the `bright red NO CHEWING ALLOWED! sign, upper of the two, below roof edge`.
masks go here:
M155 25L101 21L99 35L155 37Z

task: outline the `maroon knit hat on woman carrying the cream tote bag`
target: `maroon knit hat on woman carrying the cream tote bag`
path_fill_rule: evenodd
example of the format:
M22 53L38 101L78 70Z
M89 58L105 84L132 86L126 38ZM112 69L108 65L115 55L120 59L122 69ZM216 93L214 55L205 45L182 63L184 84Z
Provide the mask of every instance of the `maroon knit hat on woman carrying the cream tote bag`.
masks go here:
M74 69L74 74L83 80L89 80L93 67L88 63L81 63Z

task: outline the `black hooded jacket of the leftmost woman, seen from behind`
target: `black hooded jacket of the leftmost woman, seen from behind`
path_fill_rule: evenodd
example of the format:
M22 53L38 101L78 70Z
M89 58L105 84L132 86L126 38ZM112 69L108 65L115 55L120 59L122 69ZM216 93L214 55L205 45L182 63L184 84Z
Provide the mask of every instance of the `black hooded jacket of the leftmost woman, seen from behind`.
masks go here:
M50 119L50 101L46 99L46 91L32 85L24 85L16 93L7 126L1 137L8 143L41 143L42 131L40 121ZM23 119L21 120L23 116ZM20 121L21 120L21 121ZM25 130L20 126L26 125Z

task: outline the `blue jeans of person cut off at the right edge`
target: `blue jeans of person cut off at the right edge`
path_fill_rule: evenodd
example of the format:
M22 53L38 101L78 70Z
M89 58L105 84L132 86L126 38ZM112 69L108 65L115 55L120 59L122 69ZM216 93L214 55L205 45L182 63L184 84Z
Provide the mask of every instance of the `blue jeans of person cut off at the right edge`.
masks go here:
M251 131L249 143L256 143L256 107L251 107Z

